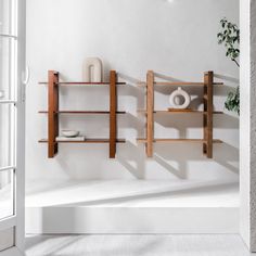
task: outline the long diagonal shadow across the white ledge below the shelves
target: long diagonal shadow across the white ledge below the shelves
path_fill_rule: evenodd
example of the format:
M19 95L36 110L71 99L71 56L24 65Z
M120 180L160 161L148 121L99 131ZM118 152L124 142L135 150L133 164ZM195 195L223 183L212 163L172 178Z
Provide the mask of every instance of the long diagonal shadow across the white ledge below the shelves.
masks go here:
M238 190L238 182L239 181L204 181L204 182L181 182L181 183L172 183L170 182L168 185L159 185L157 189L154 188L142 188L141 190L130 191L130 190L123 190L119 193L110 193L110 190L106 187L106 191L102 190L101 187L101 194L95 196L88 196L87 200L85 197L82 201L77 201L76 199L68 197L66 203L56 203L51 206L44 206L43 209L47 212L48 209L54 206L59 207L73 207L73 206L100 206L100 205L107 205L107 204L121 204L121 203L136 203L142 202L143 200L163 200L163 199L177 199L177 196L185 197L185 196L196 196L202 195L204 192L207 192L208 195L213 194L221 194L227 192L234 192ZM85 185L85 183L84 183ZM143 182L141 183L143 185ZM65 189L72 191L72 189L76 189L77 184L75 185L66 185ZM91 188L91 190L97 190L98 187ZM115 187L118 189L118 187ZM68 203L71 202L71 203Z

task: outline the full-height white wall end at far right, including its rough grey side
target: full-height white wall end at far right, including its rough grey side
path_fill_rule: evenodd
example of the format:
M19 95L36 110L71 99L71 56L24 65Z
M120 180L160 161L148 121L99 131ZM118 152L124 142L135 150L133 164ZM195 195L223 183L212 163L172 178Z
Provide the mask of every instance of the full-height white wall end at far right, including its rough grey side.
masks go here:
M252 252L256 252L256 2L241 1L241 146L240 146L240 226L241 234Z

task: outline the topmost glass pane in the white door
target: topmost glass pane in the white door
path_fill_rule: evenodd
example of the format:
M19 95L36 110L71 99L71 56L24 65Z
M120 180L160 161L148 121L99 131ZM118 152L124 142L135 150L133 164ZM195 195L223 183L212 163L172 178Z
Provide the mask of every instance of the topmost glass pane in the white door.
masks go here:
M0 0L0 34L11 34L12 21L11 21L12 0Z

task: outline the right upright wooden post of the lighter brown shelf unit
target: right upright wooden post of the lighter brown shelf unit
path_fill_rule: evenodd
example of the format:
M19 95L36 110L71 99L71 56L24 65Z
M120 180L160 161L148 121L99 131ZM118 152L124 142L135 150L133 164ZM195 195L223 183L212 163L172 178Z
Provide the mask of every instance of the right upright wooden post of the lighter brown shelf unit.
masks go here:
M203 153L213 158L213 108L214 73L204 74L204 144Z

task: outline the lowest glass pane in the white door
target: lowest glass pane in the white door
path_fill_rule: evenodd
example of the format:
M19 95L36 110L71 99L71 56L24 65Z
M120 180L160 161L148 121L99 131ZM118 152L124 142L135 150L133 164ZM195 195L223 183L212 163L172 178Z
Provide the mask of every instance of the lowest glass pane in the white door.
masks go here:
M14 213L13 185L13 170L0 171L0 220Z

